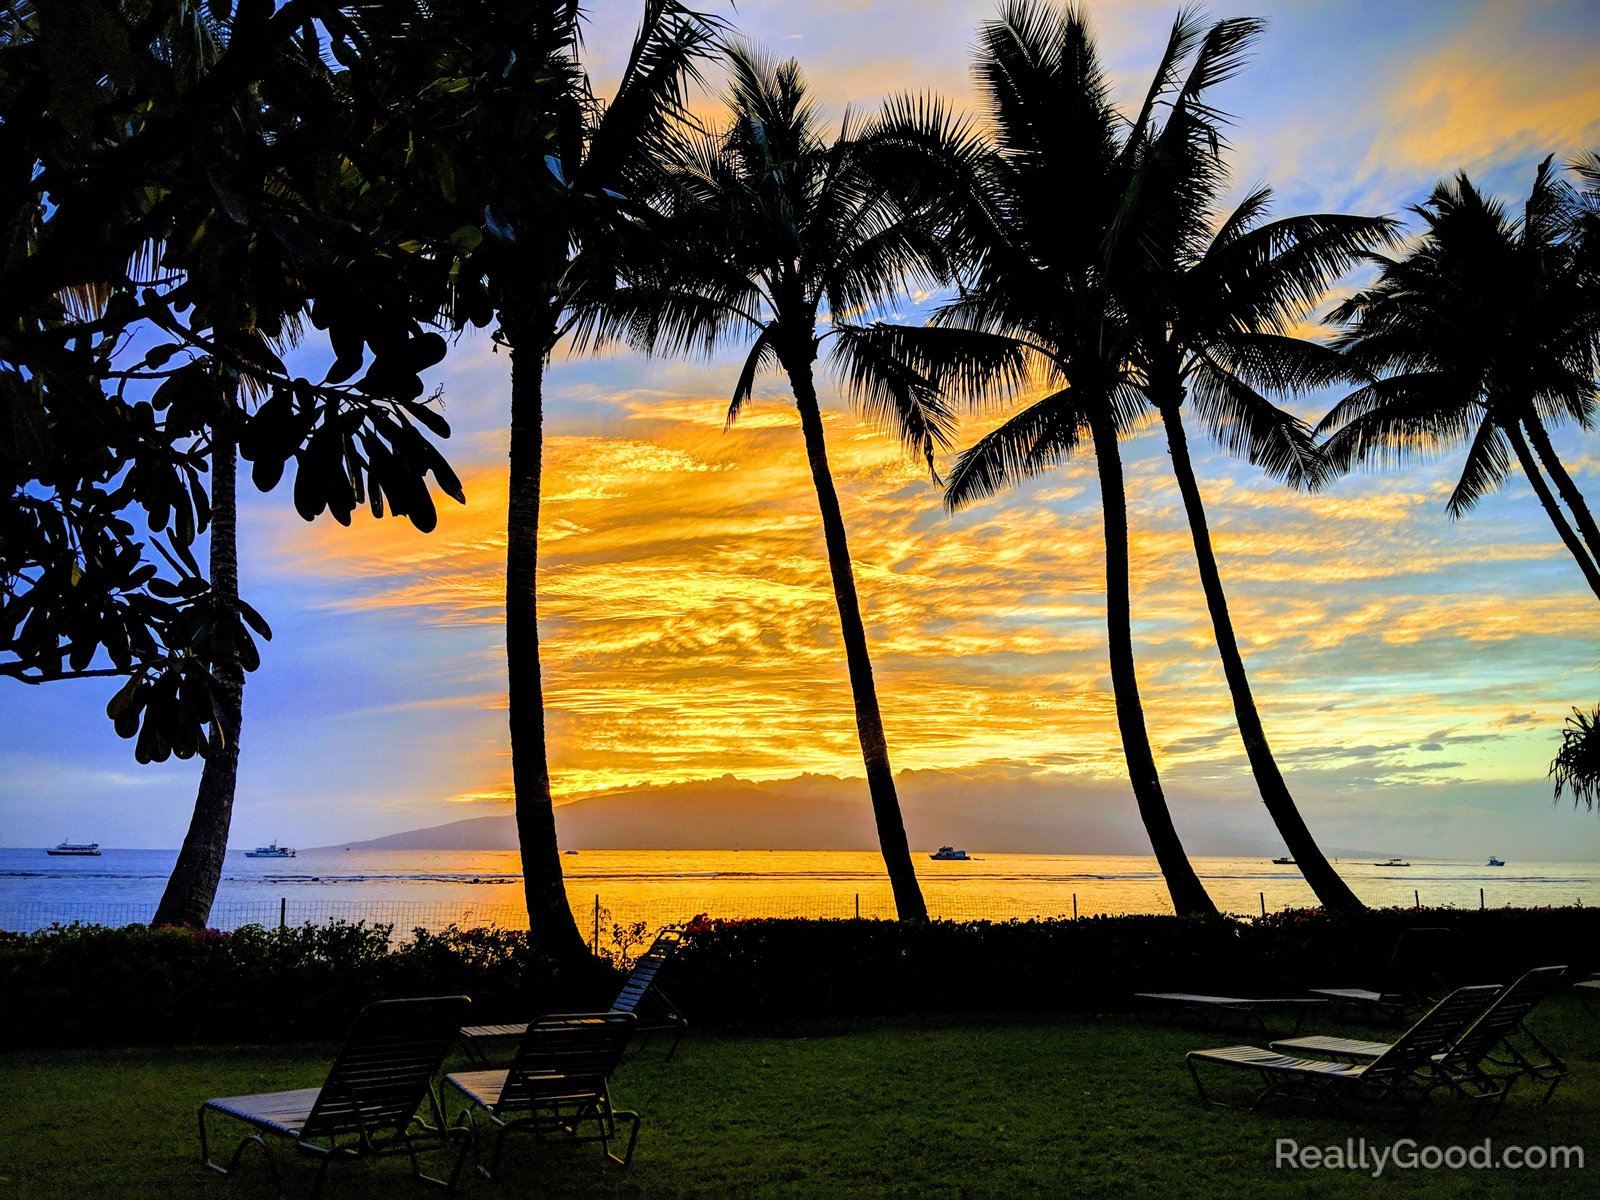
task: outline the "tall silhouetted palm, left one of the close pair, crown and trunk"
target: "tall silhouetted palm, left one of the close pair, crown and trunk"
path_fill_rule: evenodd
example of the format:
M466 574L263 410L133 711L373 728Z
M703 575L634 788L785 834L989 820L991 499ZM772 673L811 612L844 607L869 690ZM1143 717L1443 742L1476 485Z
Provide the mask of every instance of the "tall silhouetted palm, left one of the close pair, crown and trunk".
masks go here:
M1258 22L1179 14L1134 120L1110 101L1085 14L1011 0L979 29L984 128L936 101L890 106L882 138L912 197L942 219L960 291L926 330L878 330L877 349L973 400L1043 395L962 453L958 509L1094 450L1106 528L1106 619L1123 755L1179 914L1214 914L1162 792L1133 659L1128 509L1118 434L1142 410L1139 328L1126 296L1160 266L1170 205L1157 109L1206 122L1206 90L1238 69ZM1187 77L1182 74L1189 61ZM1214 128L1214 126L1213 126Z

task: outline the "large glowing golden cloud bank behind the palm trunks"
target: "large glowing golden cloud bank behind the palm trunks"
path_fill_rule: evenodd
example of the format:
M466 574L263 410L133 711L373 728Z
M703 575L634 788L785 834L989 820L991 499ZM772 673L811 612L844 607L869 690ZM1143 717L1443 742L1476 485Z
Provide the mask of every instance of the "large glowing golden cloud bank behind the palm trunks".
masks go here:
M723 432L718 402L701 392L616 403L619 434L546 440L539 611L557 794L723 773L859 774L834 587L792 410L773 398L760 411L774 419ZM987 421L968 421L958 445ZM1013 760L1050 771L1066 755L1075 771L1117 778L1093 461L950 515L925 467L882 430L830 411L827 434L894 765ZM1125 453L1152 736L1200 747L1179 757L1235 758L1237 746L1214 736L1232 710L1158 432ZM1328 702L1370 707L1371 672L1403 680L1405 702L1438 725L1442 707L1459 704L1450 682L1419 683L1395 648L1515 646L1570 629L1570 594L1448 594L1440 581L1538 563L1560 547L1466 542L1429 485L1298 496L1246 478L1242 469L1203 486L1234 618L1286 747L1326 739L1317 709ZM443 637L498 626L506 482L491 464L464 480L469 506L443 509L434 534L403 522L368 520L358 536L299 526L280 552L296 571L336 581L352 613L403 611ZM1304 662L1338 674L1298 677ZM496 672L482 646L454 669L477 690ZM1538 699L1534 683L1517 691L1515 677L1494 717ZM464 803L509 794L493 712L504 696L478 699L488 715L462 755ZM1350 736L1362 720L1394 718L1386 696L1349 723Z

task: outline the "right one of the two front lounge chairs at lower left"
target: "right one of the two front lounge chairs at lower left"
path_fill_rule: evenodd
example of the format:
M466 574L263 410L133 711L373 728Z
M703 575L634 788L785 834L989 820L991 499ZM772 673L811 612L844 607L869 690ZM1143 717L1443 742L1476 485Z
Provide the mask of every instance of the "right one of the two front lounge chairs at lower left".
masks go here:
M512 1130L531 1133L539 1141L597 1141L608 1158L627 1166L638 1141L638 1114L611 1107L606 1080L622 1061L634 1024L632 1013L539 1018L522 1035L510 1067L445 1075L446 1093L458 1093L467 1104L462 1117L472 1126L478 1170L490 1178L499 1171L506 1134ZM496 1131L488 1166L478 1146L480 1112ZM611 1152L618 1122L629 1126L627 1149L621 1155ZM461 1154L458 1173L466 1147Z

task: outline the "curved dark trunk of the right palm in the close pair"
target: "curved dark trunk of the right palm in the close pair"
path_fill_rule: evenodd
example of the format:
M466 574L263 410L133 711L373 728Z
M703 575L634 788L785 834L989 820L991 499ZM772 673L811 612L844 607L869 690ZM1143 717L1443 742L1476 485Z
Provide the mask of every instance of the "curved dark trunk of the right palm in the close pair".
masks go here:
M1189 438L1184 434L1184 418L1178 405L1160 405L1162 424L1166 427L1166 445L1173 456L1173 474L1178 477L1178 490L1184 498L1184 512L1189 514L1189 533L1195 542L1195 565L1200 570L1200 586L1205 589L1206 608L1211 610L1211 629L1216 634L1216 651L1222 659L1222 675L1227 678L1227 690L1234 698L1234 720L1238 722L1240 738L1245 741L1245 757L1250 758L1250 770L1256 776L1256 789L1261 792L1261 803L1267 806L1272 824L1278 827L1283 845L1294 858L1294 866L1317 893L1325 909L1355 910L1366 906L1350 891L1350 885L1339 878L1317 840L1306 827L1294 797L1290 795L1283 773L1278 770L1272 747L1267 744L1267 733L1261 726L1261 714L1256 710L1256 699L1250 693L1250 677L1245 674L1245 659L1238 653L1238 638L1234 637L1234 621L1227 613L1227 594L1222 592L1222 576L1216 570L1216 554L1211 550L1211 533L1206 526L1205 506L1200 502L1200 485L1195 482L1194 464L1189 461Z

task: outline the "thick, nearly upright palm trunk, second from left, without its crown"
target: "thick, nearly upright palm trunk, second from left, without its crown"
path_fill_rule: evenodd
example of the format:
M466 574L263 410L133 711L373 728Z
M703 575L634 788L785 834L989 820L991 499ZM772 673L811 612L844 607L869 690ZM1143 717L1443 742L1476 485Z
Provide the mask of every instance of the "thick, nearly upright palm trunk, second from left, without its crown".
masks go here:
M504 317L504 314L502 314ZM528 930L555 962L587 962L566 902L555 842L550 763L544 744L539 678L539 477L544 453L544 360L554 322L510 336L510 501L506 512L506 675L517 845L522 851ZM542 334L542 336L541 336ZM523 349L518 349L523 347Z

